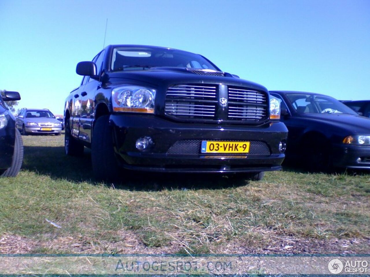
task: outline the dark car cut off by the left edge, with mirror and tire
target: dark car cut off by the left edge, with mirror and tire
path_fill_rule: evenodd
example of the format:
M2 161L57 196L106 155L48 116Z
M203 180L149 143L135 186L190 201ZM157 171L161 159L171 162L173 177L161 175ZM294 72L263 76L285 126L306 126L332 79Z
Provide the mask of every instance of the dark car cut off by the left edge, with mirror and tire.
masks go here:
M0 176L15 177L23 162L22 136L15 118L4 101L20 100L18 92L5 91L0 97Z

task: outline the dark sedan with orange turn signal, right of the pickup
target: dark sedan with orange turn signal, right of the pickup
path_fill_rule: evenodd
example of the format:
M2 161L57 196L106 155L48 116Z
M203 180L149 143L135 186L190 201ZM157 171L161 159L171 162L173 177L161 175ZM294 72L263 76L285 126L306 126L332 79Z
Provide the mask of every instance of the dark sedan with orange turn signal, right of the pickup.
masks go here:
M289 130L286 157L315 170L370 169L370 119L317 93L270 91Z

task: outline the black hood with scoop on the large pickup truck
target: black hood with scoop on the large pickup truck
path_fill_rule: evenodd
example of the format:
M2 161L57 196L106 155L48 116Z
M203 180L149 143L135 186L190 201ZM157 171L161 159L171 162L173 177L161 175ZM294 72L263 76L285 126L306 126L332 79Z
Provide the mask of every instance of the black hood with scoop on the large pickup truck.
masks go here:
M152 86L169 86L184 83L222 83L267 91L262 85L239 79L229 73L225 73L225 76L199 75L186 70L186 68L150 68L146 70L108 72L106 78L111 85L116 83L147 83Z

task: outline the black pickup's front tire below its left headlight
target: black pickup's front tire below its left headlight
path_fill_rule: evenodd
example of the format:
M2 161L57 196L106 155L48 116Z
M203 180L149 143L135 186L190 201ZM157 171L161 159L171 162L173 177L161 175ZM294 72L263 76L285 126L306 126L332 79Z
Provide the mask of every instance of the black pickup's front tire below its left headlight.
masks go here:
M99 117L92 130L91 162L95 178L98 180L117 181L119 167L114 153L109 115Z

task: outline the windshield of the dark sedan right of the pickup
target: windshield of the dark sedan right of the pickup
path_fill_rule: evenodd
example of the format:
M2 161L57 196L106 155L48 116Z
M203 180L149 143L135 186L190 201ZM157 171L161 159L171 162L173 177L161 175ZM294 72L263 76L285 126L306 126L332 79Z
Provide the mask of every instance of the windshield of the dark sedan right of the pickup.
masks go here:
M286 96L297 113L348 113L357 115L352 109L330 96L306 93L289 93Z

